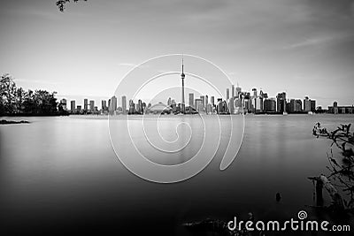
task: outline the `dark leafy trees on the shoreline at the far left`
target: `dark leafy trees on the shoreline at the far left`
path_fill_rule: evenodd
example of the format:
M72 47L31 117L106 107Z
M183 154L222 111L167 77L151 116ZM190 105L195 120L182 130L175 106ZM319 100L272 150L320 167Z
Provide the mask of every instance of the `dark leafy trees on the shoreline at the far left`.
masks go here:
M67 115L58 104L56 92L17 88L8 73L0 78L0 116L53 116Z

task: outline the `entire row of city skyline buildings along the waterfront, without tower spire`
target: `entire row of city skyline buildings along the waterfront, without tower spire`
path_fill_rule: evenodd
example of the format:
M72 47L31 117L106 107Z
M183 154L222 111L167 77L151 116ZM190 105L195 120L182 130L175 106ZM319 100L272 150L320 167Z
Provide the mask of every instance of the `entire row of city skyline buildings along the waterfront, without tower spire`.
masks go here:
M335 102L333 106L328 106L327 110L316 107L316 101L305 96L303 100L287 98L285 92L278 93L275 97L269 97L262 89L253 88L251 92L242 91L242 88L232 85L231 89L226 89L226 97L216 98L210 95L199 95L189 93L188 105L177 103L175 99L169 97L166 103L146 104L141 99L136 103L133 99L127 101L127 96L118 98L113 95L111 99L101 100L101 108L95 105L94 100L83 100L83 106L76 105L76 101L70 102L70 110L67 108L66 99L60 100L59 106L71 114L103 114L103 115L142 115L142 114L285 114L285 113L315 113L327 112L334 114L354 113L353 106L338 106Z

